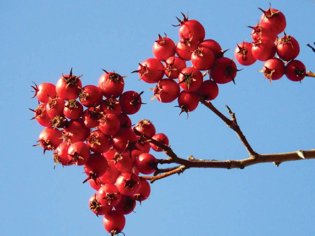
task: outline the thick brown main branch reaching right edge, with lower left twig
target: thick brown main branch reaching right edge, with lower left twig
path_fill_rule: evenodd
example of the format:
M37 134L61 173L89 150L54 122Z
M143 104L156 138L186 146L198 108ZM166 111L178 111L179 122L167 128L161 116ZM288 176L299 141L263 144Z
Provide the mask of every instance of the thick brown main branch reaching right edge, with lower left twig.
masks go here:
M293 161L293 160L305 160L305 159L315 159L315 149L311 150L299 150L296 152L287 152L287 153L276 153L276 154L257 154L257 156L249 157L243 160L225 160L225 161L217 161L217 160L198 160L191 159L185 160L182 158L178 158L176 161L173 160L171 163L182 164L181 166L168 171L164 174L157 176L141 176L141 178L150 180L151 183L158 179L162 179L168 177L173 174L180 174L184 170L188 168L226 168L233 169L239 168L244 169L246 166L251 166L259 163L267 163L273 162L277 166L285 161Z

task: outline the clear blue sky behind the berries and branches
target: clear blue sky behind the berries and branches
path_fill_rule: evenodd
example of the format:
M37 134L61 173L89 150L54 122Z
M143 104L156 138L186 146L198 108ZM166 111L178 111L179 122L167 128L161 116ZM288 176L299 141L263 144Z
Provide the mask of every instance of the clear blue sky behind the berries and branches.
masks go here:
M314 1L272 1L286 16L286 32L301 46L298 59L315 70ZM189 11L206 38L223 49L250 41L250 29L268 1L1 1L0 234L3 236L105 235L102 217L88 208L94 193L82 167L56 166L51 153L32 147L43 127L30 121L36 108L31 81L55 83L73 67L84 85L97 84L101 69L128 75L125 90L144 90L139 62L152 57L157 34L178 41L175 16ZM213 104L228 104L252 147L259 153L315 148L314 78L283 77L269 85L258 70L262 62L238 72L236 85L220 85ZM188 63L189 65L189 63ZM176 103L156 100L132 115L149 119L168 135L175 152L186 158L242 159L247 152L235 133L202 105L178 117ZM163 154L156 154L163 158ZM126 217L132 235L315 235L314 160L250 166L244 170L189 169L151 185L150 199Z

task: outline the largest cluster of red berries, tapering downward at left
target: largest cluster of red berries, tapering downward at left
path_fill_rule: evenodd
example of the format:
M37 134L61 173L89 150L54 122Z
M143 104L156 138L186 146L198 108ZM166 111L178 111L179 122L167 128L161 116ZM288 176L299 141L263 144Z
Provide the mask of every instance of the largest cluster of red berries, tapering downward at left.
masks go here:
M148 120L131 128L128 115L139 111L141 93L123 92L123 76L105 71L98 87L82 87L80 77L71 69L56 85L32 86L39 104L32 119L47 127L36 146L43 147L44 153L52 150L55 165L84 166L88 177L83 183L98 191L89 199L89 208L97 216L104 215L104 227L114 235L123 230L124 215L134 210L136 201L149 197L150 185L139 174L157 169L151 148L163 151L149 141L169 145L169 140L156 134Z

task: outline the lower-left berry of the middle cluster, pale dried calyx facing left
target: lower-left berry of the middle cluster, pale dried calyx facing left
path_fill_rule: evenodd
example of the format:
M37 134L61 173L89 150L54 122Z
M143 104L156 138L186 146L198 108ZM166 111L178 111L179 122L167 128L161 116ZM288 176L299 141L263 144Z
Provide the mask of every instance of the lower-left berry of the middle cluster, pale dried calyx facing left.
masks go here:
M176 81L172 79L162 79L157 82L157 86L152 88L154 93L153 98L157 98L159 102L173 102L180 93L180 87Z

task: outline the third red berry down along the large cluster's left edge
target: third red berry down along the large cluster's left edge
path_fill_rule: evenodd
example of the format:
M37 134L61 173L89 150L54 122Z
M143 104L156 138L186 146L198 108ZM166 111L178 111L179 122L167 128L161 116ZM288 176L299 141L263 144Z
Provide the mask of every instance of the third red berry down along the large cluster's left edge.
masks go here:
M47 127L42 130L39 134L38 141L39 145L45 150L54 150L62 143L62 132L53 127Z

